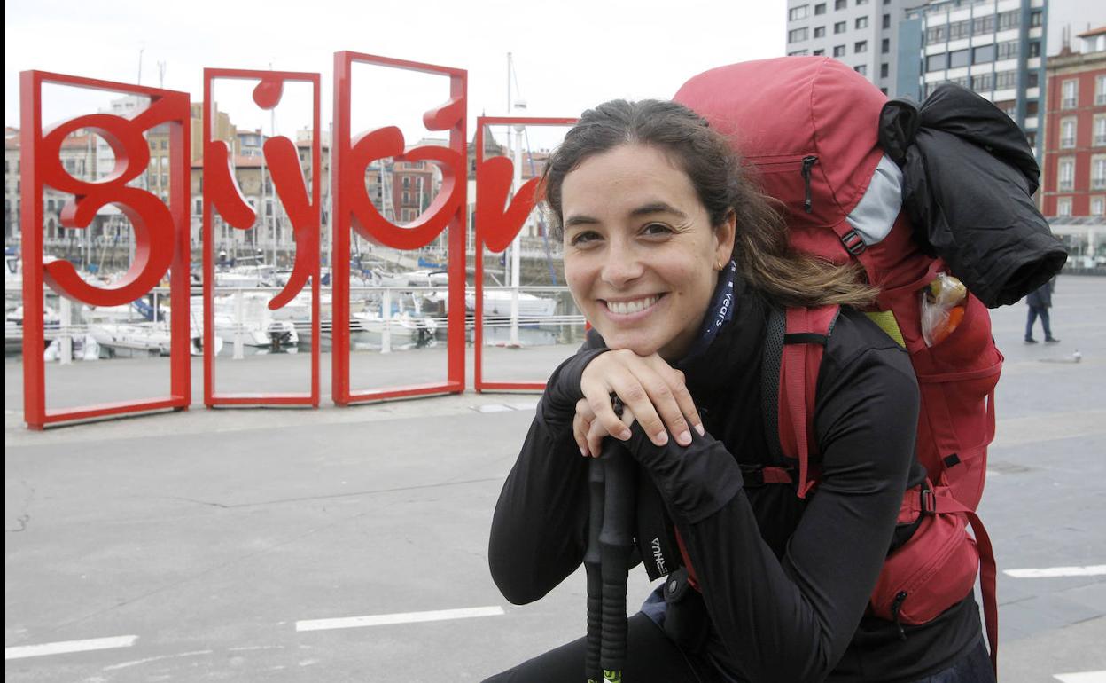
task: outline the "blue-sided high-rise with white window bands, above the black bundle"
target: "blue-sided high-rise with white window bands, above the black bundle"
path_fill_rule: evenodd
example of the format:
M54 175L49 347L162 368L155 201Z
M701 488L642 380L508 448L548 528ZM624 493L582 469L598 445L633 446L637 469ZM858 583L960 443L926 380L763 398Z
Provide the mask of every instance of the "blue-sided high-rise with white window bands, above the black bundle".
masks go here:
M1040 156L1046 21L1045 0L936 0L908 9L894 91L921 101L946 81L970 87L1018 122Z

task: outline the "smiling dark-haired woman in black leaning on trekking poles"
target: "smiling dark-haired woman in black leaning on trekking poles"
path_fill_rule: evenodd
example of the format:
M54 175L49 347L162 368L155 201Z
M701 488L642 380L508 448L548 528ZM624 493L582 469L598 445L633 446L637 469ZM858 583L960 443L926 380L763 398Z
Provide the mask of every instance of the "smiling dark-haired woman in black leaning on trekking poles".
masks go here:
M855 310L876 293L858 271L790 251L726 139L679 104L585 112L545 189L595 333L550 377L500 495L489 562L503 594L531 602L581 565L582 456L609 436L660 491L697 579L630 618L627 681L993 680L972 596L901 630L865 614L902 540L902 494L925 473L910 362ZM821 483L803 501L742 470L770 463L766 311L825 303L844 308L818 380ZM582 681L583 659L577 640L489 680Z

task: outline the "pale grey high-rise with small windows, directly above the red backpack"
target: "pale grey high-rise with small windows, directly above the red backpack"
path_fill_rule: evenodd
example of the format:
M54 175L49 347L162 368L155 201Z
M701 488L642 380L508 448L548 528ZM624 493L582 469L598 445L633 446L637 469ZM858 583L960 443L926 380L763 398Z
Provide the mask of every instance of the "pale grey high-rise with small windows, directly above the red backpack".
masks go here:
M905 0L787 0L787 54L834 56L895 96Z

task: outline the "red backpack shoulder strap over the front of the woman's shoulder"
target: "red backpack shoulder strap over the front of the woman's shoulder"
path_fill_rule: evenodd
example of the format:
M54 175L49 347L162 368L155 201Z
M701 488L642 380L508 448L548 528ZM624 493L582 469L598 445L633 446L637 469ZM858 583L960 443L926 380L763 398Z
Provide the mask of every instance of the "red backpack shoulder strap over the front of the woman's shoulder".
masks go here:
M770 448L799 462L797 495L817 484L811 476L814 400L825 345L841 313L839 306L789 308L769 314L762 385ZM782 324L781 324L782 323ZM771 403L775 405L770 405Z

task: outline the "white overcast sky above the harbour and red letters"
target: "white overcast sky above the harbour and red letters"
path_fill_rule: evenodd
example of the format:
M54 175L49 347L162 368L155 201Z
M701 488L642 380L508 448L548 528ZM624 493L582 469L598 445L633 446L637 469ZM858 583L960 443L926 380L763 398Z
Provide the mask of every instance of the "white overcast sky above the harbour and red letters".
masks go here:
M467 69L470 117L505 112L512 52L529 114L574 116L613 97L669 97L712 66L782 55L785 7L785 0L8 0L4 122L19 126L20 71L134 83L139 54L144 85L187 91L194 101L202 96L205 66L317 71L327 122L337 50ZM1065 23L1075 32L1106 23L1106 2L1053 0L1050 53ZM385 81L372 71L364 79L355 130L395 123L417 134L415 115L448 94L445 80ZM268 132L269 114L252 106L244 89L228 89L217 100L234 123ZM307 110L295 102L290 91L288 107L278 110L279 133L306 123ZM45 118L88 111L86 103L93 100L55 95Z

